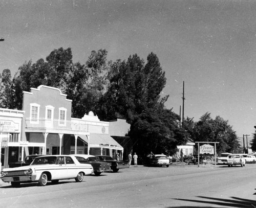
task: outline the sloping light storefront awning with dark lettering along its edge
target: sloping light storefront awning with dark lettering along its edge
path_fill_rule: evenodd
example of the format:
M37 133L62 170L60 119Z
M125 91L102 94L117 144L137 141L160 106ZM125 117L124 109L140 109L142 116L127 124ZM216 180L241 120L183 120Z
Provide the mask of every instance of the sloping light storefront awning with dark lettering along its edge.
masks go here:
M109 149L123 150L123 147L109 134L90 133L90 147L103 147Z

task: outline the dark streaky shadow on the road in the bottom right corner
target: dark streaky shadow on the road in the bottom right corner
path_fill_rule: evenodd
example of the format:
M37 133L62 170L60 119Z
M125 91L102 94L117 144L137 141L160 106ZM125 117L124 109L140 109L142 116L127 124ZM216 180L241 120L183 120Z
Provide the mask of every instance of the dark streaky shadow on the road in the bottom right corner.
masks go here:
M189 207L212 207L212 205L218 205L218 206L227 206L227 207L239 207L239 208L244 208L244 207L256 207L256 201L255 200L249 200L249 199L243 199L243 198L238 198L238 197L231 197L231 199L219 199L219 198L212 198L212 197L204 197L204 196L198 196L199 198L203 199L208 199L209 201L204 201L204 200L191 200L191 199L176 199L176 200L181 200L181 201L191 201L191 202L196 202L196 203L204 203L204 204L209 204L209 206L197 204L195 206L167 206L166 208L189 208ZM216 200L216 201L212 201Z

